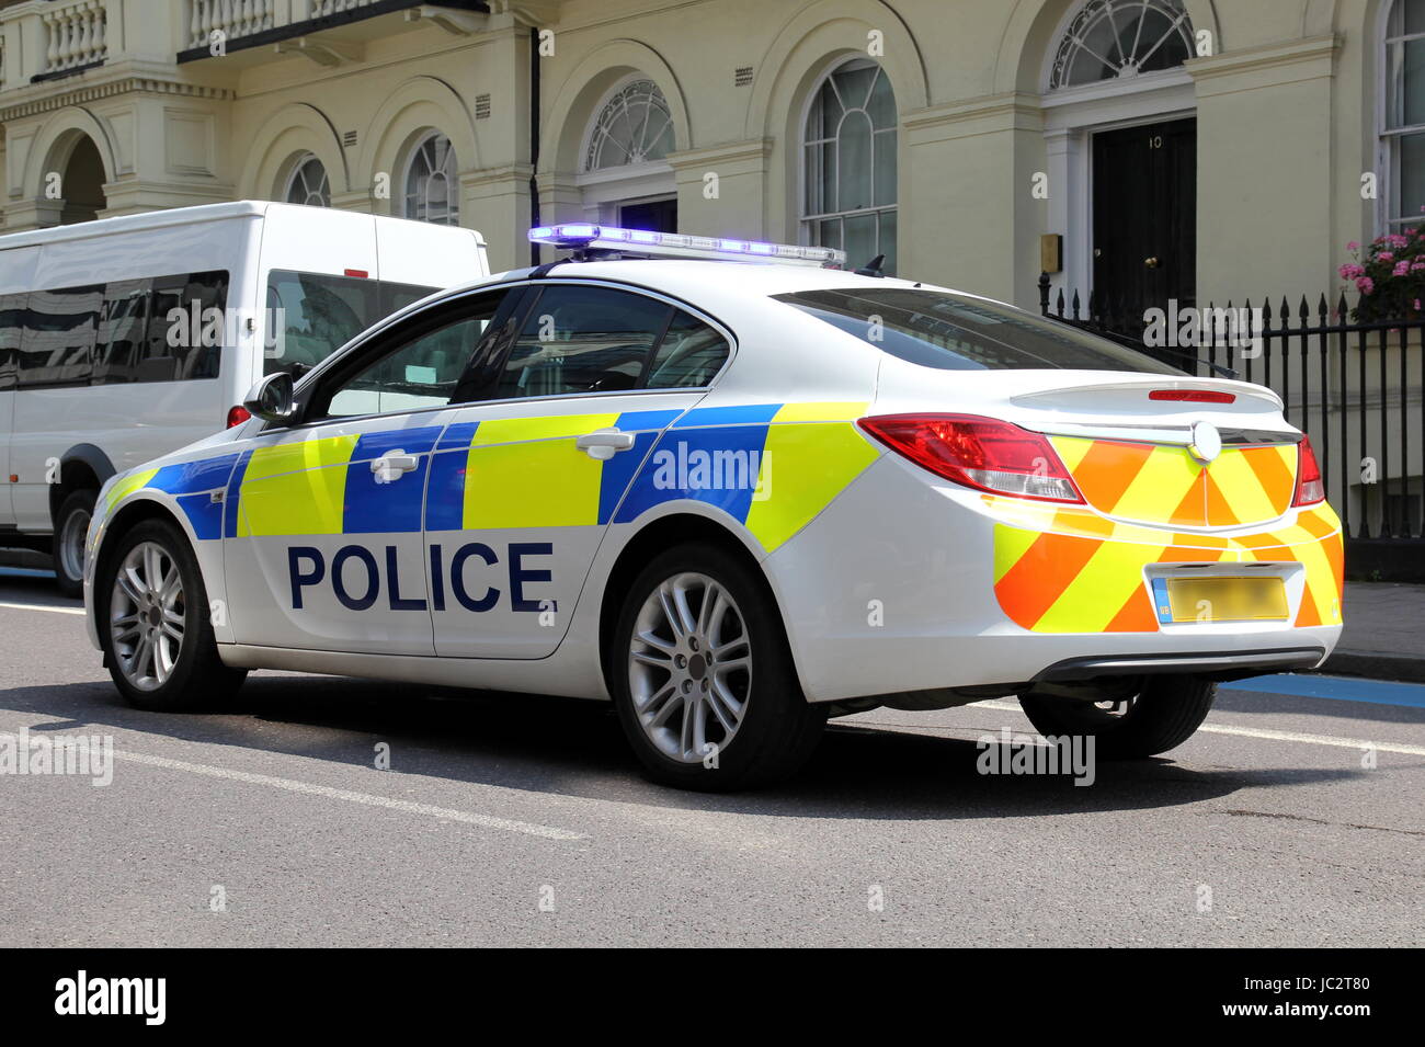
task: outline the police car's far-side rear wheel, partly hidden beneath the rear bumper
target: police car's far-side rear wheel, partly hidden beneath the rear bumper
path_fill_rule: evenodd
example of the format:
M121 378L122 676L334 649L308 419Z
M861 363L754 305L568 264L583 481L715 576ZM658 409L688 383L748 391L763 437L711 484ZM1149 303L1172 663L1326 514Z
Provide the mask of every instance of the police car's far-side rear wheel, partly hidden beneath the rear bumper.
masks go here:
M1022 694L1019 704L1042 735L1093 735L1104 759L1141 759L1174 749L1201 726L1217 684L1200 677L1153 675L1102 699Z

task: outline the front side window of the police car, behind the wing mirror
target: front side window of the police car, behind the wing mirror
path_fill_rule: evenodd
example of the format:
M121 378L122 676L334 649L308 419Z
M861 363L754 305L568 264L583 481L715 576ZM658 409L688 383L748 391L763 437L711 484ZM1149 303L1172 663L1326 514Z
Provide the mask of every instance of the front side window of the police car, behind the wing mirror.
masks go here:
M353 366L338 368L315 392L308 420L446 406L503 299L502 292L467 301L435 326L429 318L410 318L402 325L405 338L390 332L383 349L362 353Z

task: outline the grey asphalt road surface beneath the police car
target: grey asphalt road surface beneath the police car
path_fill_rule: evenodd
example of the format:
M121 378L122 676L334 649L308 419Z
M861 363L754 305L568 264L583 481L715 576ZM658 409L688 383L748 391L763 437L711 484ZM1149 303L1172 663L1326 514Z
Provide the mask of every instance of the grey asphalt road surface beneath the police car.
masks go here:
M259 672L137 712L38 575L0 571L0 732L118 754L107 786L0 775L0 946L1425 940L1425 688L1224 688L1090 786L978 773L1013 702L879 709L791 785L707 796L586 702Z

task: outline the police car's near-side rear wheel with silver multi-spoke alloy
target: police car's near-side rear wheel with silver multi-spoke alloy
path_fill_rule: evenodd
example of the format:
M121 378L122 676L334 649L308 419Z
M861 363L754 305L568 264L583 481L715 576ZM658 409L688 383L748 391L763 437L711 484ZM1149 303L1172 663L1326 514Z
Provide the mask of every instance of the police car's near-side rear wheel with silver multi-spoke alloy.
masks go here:
M826 707L802 695L765 584L724 550L657 556L628 588L611 644L618 721L654 781L767 785L817 748Z

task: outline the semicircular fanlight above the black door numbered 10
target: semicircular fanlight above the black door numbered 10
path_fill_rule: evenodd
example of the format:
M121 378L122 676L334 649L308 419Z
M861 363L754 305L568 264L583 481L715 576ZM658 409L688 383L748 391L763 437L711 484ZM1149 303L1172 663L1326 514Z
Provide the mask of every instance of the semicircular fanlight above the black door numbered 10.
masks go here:
M1076 87L1181 66L1193 23L1181 0L1090 0L1069 23L1049 87Z

